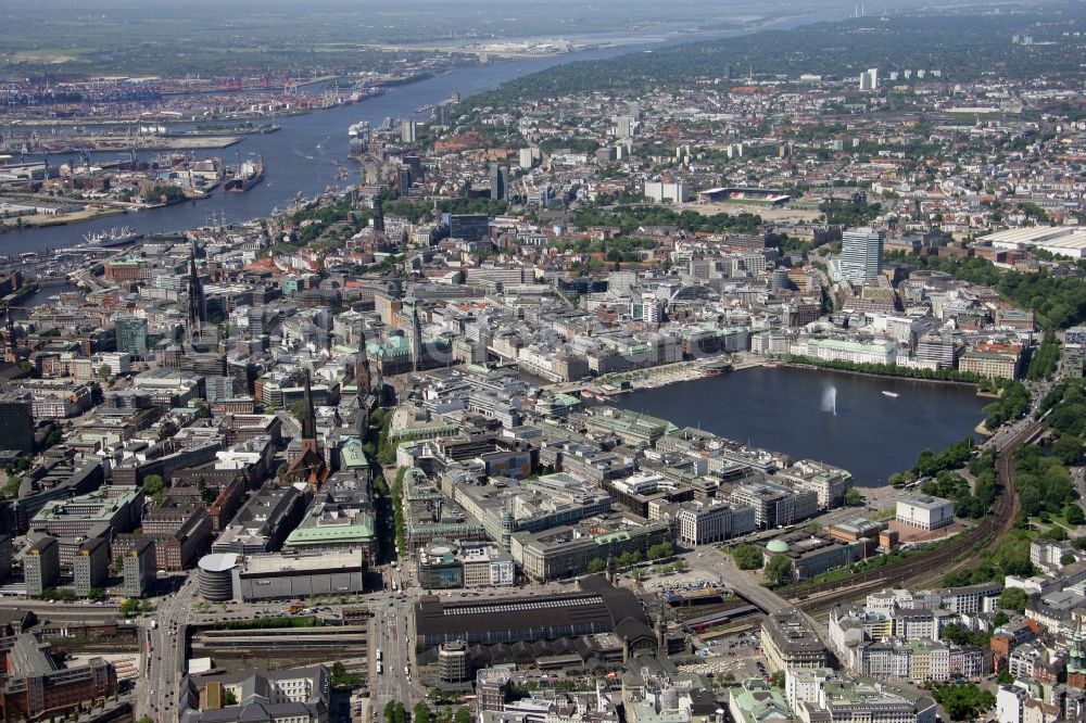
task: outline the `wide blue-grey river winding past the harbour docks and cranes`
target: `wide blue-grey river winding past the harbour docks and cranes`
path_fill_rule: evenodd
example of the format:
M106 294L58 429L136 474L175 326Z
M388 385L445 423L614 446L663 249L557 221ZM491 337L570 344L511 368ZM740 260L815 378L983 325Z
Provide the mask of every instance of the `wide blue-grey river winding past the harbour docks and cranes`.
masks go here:
M778 18L770 25L786 28L806 23L833 20L826 15L800 15ZM637 37L616 35L597 36L597 42L611 41L615 48L597 49L564 55L533 58L490 65L465 67L427 78L418 83L389 88L382 96L361 103L341 105L306 115L289 116L277 120L281 130L266 136L245 136L230 148L197 152L198 157L220 155L227 163L237 158L263 155L267 168L266 180L248 193L225 193L222 190L195 203L184 203L165 208L142 211L137 214L111 216L71 226L28 228L0 233L0 253L23 253L47 248L64 248L78 243L85 233L109 229L113 226L131 226L142 233L178 231L209 224L212 216L225 217L228 223L267 216L274 208L287 208L301 192L314 196L325 187L345 186L337 181L336 163L348 163L346 129L351 124L368 120L375 127L386 117L415 116L415 109L433 104L458 91L462 97L493 90L507 80L538 73L555 65L574 61L597 60L637 50L647 50L680 42L692 42L715 37L736 35L736 31L697 33L690 28L656 28ZM623 45L624 43L624 45ZM415 116L424 118L426 116ZM96 157L116 158L119 154L94 154ZM357 180L357 166L351 165L352 182Z

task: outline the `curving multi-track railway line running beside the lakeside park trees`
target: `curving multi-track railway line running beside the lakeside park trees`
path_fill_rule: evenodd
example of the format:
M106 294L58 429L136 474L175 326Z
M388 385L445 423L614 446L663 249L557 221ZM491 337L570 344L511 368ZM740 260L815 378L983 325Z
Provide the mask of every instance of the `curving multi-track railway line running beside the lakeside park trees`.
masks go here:
M908 586L974 566L1014 525L1021 508L1013 484L1013 456L1021 445L1036 439L1044 422L1034 422L1015 434L996 458L996 481L1000 494L984 520L958 538L884 568L861 572L847 581L819 583L788 596L800 610L817 613L883 587Z

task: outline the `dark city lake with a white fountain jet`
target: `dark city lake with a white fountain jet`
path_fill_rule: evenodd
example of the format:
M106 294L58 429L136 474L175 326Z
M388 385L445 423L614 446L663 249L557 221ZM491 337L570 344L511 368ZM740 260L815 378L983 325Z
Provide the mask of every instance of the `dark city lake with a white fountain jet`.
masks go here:
M922 449L973 435L985 402L962 384L754 367L618 395L611 404L830 462L850 471L857 486L871 487L911 468Z

